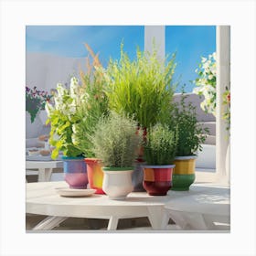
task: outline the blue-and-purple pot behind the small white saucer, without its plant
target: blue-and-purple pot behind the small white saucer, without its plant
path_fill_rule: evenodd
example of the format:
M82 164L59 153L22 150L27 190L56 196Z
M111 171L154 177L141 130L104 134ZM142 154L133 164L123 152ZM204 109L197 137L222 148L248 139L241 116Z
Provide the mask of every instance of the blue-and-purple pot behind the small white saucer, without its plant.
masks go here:
M65 181L70 188L87 188L88 176L84 157L62 156Z

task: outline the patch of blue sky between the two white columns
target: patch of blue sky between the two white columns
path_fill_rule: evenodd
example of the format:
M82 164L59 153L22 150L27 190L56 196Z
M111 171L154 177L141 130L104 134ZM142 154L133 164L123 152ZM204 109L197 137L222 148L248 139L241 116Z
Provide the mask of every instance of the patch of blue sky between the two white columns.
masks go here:
M167 26L165 27L165 53L176 52L175 79L186 91L192 91L190 80L197 78L200 57L208 57L216 51L215 26ZM180 77L180 79L179 79Z

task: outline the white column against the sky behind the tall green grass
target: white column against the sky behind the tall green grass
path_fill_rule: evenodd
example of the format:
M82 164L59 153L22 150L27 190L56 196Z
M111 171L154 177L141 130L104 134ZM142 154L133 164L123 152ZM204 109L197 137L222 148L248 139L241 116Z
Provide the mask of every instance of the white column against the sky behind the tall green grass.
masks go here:
M144 50L152 52L153 41L160 59L165 59L165 26L144 26Z

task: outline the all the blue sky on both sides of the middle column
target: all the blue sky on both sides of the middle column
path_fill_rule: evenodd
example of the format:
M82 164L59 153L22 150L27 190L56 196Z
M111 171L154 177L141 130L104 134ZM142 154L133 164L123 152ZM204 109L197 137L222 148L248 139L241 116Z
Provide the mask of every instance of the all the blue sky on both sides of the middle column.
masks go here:
M195 69L201 56L216 50L214 26L166 26L165 53L176 51L175 80L187 84L195 80ZM45 52L63 57L82 58L88 55L83 43L88 43L100 54L106 66L110 57L119 59L120 44L130 58L135 57L136 47L144 49L144 26L27 26L26 49L28 52Z

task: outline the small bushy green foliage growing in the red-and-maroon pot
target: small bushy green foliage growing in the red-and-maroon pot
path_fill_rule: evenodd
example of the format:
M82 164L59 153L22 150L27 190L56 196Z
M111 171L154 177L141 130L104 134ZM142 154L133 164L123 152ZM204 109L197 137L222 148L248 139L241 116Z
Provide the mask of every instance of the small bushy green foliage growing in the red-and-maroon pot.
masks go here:
M172 165L176 156L178 134L166 125L156 123L149 129L144 144L147 165Z

